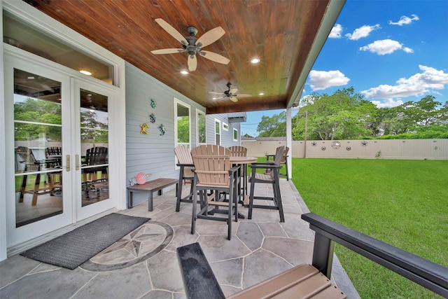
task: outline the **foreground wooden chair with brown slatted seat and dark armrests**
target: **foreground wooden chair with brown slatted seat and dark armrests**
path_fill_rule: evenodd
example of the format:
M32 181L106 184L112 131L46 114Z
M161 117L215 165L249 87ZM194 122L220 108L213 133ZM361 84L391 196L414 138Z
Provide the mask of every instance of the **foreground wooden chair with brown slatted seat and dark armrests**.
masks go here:
M447 267L316 214L303 214L302 219L316 232L312 265L298 265L229 298L345 298L330 284L334 242L448 298ZM200 244L179 247L177 255L187 298L225 298Z

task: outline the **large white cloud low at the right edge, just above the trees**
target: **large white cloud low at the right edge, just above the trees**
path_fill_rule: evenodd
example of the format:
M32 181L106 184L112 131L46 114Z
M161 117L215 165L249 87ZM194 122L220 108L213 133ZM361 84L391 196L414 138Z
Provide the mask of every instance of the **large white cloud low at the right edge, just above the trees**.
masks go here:
M396 85L379 85L376 88L363 90L361 93L370 99L386 99L392 103L393 99L423 95L434 90L442 90L444 85L448 85L448 74L444 71L424 65L419 65L419 69L421 73L409 78L400 78L396 81Z

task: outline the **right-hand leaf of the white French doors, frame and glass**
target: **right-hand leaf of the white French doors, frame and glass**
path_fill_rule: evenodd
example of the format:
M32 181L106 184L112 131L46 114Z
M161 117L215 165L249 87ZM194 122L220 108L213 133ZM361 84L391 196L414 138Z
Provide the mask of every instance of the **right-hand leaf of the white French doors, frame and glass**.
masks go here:
M73 80L76 105L76 221L113 208L109 197L109 101L113 92Z

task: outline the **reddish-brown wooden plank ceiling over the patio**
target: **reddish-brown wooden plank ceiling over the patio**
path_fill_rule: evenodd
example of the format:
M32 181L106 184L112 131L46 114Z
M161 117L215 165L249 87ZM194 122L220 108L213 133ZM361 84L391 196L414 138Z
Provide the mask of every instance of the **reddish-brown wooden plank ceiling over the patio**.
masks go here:
M297 85L330 0L26 0L135 67L193 101L207 113L284 109ZM183 36L197 38L221 26L225 34L204 47L228 57L220 64L197 55L188 75L187 53L154 55L151 50L182 48L155 19ZM253 57L259 64L251 64ZM249 94L238 102L213 99L228 90ZM259 93L265 95L260 96Z

